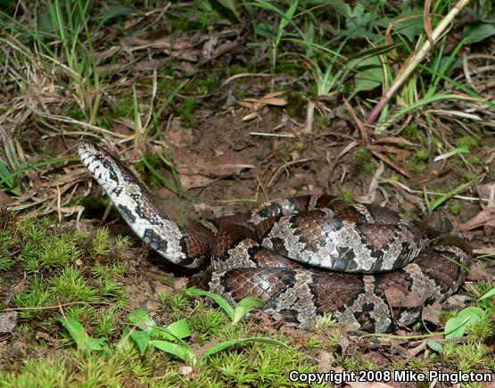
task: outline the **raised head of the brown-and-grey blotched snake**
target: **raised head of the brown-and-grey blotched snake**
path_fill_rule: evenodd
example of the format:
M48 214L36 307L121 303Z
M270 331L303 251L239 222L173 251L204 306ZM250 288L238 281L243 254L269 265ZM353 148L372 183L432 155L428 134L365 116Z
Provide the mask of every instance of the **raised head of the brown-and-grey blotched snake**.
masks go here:
M122 185L125 175L130 174L110 153L95 144L80 142L78 154L92 177L107 194L114 193Z

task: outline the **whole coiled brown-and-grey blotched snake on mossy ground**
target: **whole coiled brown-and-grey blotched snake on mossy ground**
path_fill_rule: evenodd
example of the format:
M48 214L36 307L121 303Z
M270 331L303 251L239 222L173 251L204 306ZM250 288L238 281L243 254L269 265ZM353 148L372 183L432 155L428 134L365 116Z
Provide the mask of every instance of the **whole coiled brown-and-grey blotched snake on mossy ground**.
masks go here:
M457 235L373 204L299 195L254 211L181 227L118 157L79 142L90 175L144 244L178 266L188 285L232 306L247 296L276 322L312 328L318 316L387 333L416 323L425 306L464 283L472 250Z

